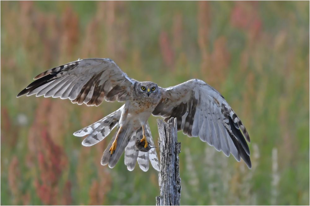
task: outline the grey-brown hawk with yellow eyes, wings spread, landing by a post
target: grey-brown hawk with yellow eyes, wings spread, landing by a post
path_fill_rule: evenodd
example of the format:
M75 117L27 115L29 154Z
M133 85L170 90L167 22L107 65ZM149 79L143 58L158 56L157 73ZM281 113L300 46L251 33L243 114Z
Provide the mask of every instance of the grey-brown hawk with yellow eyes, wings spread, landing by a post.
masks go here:
M149 161L154 169L159 170L148 124L152 114L164 117L165 121L176 117L178 130L183 130L189 137L199 136L201 141L223 151L227 157L232 153L238 162L242 158L251 168L246 143L246 140L250 142L250 137L246 128L224 97L202 80L192 79L162 88L153 82L129 78L108 58L79 59L49 69L34 79L17 97L34 94L37 97L60 97L87 106L99 106L103 100L125 102L103 119L73 133L78 137L88 135L82 145L91 146L117 127L103 153L102 165L113 168L125 150L128 170L133 170L138 162L140 168L147 171ZM144 148L143 145L137 146L138 139Z

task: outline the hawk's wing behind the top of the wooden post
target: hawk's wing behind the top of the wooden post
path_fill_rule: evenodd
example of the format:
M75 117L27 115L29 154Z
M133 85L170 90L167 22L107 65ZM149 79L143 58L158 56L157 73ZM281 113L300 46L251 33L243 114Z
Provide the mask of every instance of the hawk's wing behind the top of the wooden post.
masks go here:
M226 156L232 153L238 162L241 157L251 168L246 128L224 97L205 82L192 79L164 88L153 115L162 116L165 121L176 117L178 130L182 129L189 137L199 136Z

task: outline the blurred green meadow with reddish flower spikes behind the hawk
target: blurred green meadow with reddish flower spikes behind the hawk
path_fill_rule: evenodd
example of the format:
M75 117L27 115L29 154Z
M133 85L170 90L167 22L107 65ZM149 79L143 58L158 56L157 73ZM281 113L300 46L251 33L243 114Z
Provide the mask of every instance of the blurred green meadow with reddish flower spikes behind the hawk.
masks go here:
M1 1L2 205L155 204L156 170L101 166L112 136L73 136L122 103L16 99L37 74L91 57L162 87L202 79L246 126L251 170L178 133L181 204L309 205L308 1Z

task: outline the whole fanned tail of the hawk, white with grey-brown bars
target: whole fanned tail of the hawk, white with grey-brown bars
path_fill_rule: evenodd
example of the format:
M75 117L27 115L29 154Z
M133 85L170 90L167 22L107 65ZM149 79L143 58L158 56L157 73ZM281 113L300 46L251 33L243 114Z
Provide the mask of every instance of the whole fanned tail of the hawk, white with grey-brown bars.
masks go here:
M108 134L113 130L114 127L118 125L118 122L121 118L122 110L124 105L119 108L118 110L112 112L108 116L104 117L103 119L91 124L83 129L74 132L73 135L77 137L83 137L88 135L83 141L82 145L84 146L92 146L96 143L103 140ZM130 122L126 125L123 125L122 130L117 139L117 147L111 156L110 147L112 146L113 141L115 140L117 131L115 132L112 140L110 141L108 147L105 149L101 164L107 165L110 168L113 168L116 163L118 162L119 158L121 157L122 153L124 152L125 148L125 164L128 170L133 170L135 168L135 163L138 161L140 168L143 171L148 170L149 160L151 161L152 166L159 170L159 163L157 158L156 149L152 148L148 152L139 151L135 147L135 141L137 139L142 138L142 127L138 130L133 130L130 127ZM147 141L150 143L150 146L154 146L152 134L148 123L145 125L145 135Z

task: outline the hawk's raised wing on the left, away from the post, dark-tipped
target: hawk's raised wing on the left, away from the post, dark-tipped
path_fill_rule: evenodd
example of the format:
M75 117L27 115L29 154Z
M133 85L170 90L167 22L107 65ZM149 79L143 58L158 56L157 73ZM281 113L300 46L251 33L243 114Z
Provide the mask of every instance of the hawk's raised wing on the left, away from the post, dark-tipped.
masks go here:
M60 97L72 103L98 106L103 100L125 101L136 82L111 59L82 59L49 69L22 90L21 95Z

